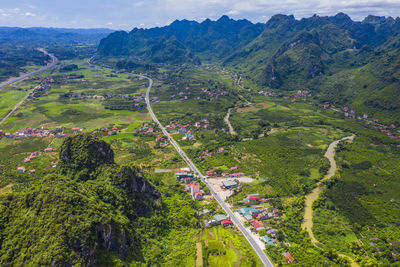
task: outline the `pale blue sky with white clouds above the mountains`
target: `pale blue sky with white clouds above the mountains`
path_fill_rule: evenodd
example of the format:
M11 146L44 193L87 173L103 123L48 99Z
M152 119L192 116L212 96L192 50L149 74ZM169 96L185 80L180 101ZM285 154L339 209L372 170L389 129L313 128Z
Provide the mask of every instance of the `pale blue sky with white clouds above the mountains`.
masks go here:
M266 22L272 15L296 18L348 14L400 16L400 0L0 0L0 26L111 28L131 30L175 19L234 19Z

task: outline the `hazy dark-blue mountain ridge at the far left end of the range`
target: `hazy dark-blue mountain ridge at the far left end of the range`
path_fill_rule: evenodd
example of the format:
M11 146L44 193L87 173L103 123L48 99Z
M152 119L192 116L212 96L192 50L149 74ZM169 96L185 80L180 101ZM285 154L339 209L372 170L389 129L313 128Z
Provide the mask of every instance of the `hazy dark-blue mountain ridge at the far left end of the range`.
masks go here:
M174 21L152 29L114 32L101 40L101 56L135 56L147 61L172 64L222 59L244 47L264 29L263 24L233 20Z

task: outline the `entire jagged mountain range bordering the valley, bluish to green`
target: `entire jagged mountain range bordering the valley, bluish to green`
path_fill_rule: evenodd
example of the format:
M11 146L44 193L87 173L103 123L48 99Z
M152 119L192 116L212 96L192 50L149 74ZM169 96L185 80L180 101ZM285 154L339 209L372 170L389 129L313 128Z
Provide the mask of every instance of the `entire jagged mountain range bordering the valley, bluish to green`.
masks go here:
M386 112L400 107L391 97L400 75L399 33L398 17L370 15L358 22L344 13L300 20L275 15L266 24L253 24L222 16L114 32L101 40L98 54L154 63L218 63L259 86L324 91L334 102Z

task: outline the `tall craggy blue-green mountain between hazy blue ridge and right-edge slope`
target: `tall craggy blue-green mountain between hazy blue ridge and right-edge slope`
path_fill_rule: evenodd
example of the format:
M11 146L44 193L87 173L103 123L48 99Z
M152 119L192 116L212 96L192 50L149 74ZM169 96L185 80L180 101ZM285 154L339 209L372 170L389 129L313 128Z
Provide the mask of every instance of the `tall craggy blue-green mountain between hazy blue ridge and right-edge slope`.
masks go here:
M224 64L240 69L263 86L307 88L319 75L368 63L371 50L399 32L399 18L368 16L354 22L343 13L301 20L275 15L260 36Z

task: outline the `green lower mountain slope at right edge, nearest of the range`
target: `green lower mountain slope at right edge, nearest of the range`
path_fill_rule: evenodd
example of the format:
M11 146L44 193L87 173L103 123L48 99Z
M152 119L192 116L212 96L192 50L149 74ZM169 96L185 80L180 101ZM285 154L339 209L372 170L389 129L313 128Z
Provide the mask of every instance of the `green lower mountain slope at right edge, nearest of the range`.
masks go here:
M365 54L373 55L367 64L321 77L321 91L326 100L399 124L400 36Z

